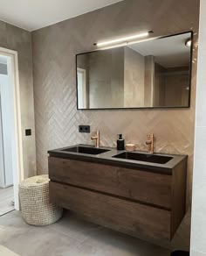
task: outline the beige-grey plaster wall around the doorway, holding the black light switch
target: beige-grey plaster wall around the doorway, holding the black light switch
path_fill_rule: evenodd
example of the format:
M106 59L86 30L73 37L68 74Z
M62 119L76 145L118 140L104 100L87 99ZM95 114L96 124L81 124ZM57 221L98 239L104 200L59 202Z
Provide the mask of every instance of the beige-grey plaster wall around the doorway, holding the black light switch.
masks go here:
M0 21L0 47L17 51L21 121L24 153L24 177L36 174L36 152L34 136L34 105L31 61L31 33ZM31 137L25 137L24 130L31 128Z

